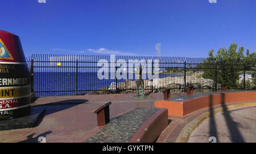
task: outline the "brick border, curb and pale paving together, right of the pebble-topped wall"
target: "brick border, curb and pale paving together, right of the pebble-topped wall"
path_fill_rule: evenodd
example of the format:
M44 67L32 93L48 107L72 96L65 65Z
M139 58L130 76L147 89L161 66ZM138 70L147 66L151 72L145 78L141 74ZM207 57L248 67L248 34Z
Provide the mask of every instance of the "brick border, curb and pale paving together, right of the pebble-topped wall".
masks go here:
M216 142L222 142L222 139L223 142L256 142L255 107L256 102L234 102L203 108L182 117L168 115L171 122L156 142L209 143L210 136L216 137ZM218 135L222 135L221 140Z

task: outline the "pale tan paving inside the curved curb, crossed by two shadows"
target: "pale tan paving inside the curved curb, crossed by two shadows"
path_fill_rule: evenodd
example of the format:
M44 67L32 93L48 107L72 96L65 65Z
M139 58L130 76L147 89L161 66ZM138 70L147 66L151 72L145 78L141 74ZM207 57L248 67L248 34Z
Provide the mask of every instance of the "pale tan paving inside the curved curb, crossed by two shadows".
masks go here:
M212 124L214 122L214 125ZM210 127L215 127L210 129ZM246 106L217 113L192 132L188 142L256 142L256 106Z

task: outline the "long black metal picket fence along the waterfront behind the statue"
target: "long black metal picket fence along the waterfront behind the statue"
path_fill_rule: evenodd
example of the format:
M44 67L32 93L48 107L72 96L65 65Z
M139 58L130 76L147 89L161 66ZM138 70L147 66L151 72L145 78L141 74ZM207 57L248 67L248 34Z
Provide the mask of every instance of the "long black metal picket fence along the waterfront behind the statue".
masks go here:
M216 61L208 58L46 55L27 57L31 69L31 92L36 96L97 95L135 93L137 66L144 65L146 93L184 92L194 85L195 92L256 88L256 62Z

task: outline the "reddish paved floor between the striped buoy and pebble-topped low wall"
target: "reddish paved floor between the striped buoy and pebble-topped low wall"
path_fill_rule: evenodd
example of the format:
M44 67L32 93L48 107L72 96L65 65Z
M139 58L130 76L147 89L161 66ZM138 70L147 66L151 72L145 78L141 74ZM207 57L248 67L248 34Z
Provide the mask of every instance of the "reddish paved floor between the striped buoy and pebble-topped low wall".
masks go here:
M162 93L151 94L147 100L133 99L133 95L40 97L31 104L46 104L43 105L46 113L40 124L30 129L0 131L0 142L38 142L40 136L45 136L46 142L85 142L100 129L93 112L102 104L113 102L110 118L114 118L134 108L155 108L154 101L163 99Z

